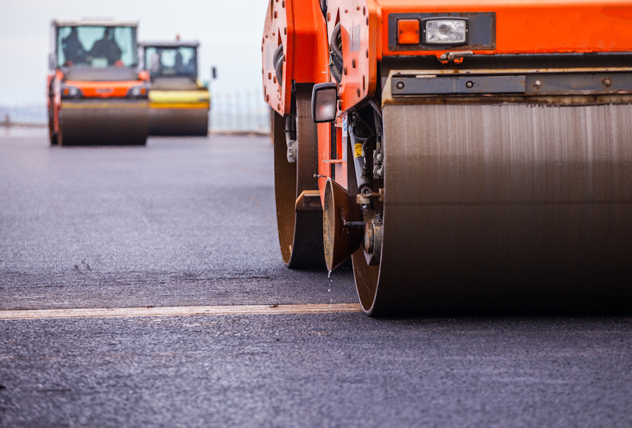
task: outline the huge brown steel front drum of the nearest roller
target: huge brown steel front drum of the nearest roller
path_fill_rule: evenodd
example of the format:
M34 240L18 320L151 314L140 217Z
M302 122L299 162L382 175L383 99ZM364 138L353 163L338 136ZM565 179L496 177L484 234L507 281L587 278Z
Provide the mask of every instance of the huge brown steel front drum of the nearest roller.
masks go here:
M369 315L632 310L632 106L386 106Z

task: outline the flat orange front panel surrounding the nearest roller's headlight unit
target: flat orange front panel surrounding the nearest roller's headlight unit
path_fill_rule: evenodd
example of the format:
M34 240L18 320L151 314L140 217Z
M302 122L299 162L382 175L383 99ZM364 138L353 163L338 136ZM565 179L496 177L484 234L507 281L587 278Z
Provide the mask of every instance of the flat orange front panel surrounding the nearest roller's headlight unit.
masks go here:
M496 14L496 43L481 54L618 52L632 50L632 1L380 0L382 55L441 55L445 50L391 50L387 22L396 13ZM394 23L397 24L397 23Z

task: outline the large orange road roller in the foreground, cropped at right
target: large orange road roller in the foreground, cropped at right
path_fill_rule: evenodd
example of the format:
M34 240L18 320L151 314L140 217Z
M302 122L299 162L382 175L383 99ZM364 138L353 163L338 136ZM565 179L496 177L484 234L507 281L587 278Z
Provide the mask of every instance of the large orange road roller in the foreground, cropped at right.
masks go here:
M368 315L632 308L632 1L270 0L284 263Z

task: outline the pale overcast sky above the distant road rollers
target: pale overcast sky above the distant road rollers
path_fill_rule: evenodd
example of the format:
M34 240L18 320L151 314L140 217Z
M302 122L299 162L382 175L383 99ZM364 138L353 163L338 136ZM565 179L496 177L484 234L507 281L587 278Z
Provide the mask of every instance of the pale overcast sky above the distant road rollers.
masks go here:
M0 106L46 102L50 20L137 19L139 41L200 41L200 78L215 92L261 91L266 0L0 0Z

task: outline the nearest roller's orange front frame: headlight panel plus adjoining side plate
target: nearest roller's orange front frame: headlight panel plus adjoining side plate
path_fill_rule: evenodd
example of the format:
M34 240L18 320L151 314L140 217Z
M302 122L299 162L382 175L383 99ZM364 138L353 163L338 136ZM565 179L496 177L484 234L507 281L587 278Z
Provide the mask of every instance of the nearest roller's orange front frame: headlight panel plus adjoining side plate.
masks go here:
M492 48L475 55L625 52L632 50L632 3L590 0L330 0L329 37L341 22L346 72L339 88L341 110L372 97L384 57L432 55L446 50L406 50L389 40L397 15L493 13ZM393 19L394 18L394 19ZM450 50L455 50L451 48Z

